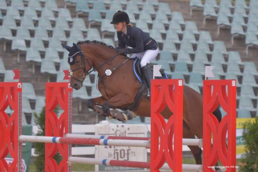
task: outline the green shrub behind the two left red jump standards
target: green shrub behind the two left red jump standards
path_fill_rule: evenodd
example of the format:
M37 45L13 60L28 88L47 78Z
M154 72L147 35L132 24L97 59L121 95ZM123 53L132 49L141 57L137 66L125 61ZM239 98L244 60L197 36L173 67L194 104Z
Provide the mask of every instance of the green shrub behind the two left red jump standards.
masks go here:
M54 112L58 114L58 110L55 109ZM39 128L37 135L44 136L45 135L45 107L43 107L40 114L34 113L35 123ZM35 160L35 165L37 168L37 172L44 172L44 160L45 160L45 143L35 143L35 153L39 155ZM59 164L62 160L62 157L57 152L54 156L55 161Z

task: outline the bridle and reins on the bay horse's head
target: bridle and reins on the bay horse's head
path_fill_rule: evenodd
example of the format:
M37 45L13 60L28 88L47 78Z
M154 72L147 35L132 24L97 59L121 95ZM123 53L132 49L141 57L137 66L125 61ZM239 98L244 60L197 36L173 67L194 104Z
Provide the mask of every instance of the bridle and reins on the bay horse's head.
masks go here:
M70 77L70 78L73 78L74 80L76 80L76 81L78 81L78 82L80 82L81 84L83 84L83 81L85 80L85 78L86 78L86 76L87 76L88 74L90 74L90 73L93 72L93 71L96 71L98 68L100 68L100 67L103 66L104 64L108 63L109 61L113 60L115 57L117 57L117 56L119 55L119 54L116 54L116 55L112 56L112 57L109 58L107 61L105 61L104 63L102 63L102 64L100 64L99 66L97 66L96 68L94 68L93 65L90 65L90 62L89 62L88 58L86 57L86 55L84 55L84 53L83 53L82 50L76 52L74 55L76 55L76 54L79 54L79 55L81 56L81 65L80 65L78 68L74 69L74 70L69 70L69 77ZM71 57L73 57L74 55L72 55ZM90 71L89 71L89 70L88 70L88 71L86 70L85 60L87 61L88 65L89 65L89 67L90 67L89 69L93 68L93 69L91 69ZM75 72L75 71L77 71L77 70L80 70L80 69L82 69L82 70L84 71L83 76L81 77L81 79L75 78L75 77L73 76L73 72Z

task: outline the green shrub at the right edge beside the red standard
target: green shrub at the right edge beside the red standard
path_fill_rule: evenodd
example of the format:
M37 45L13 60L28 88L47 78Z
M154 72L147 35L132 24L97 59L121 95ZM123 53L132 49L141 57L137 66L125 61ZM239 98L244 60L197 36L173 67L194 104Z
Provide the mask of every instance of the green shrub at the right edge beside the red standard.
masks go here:
M243 125L243 139L246 153L240 159L242 172L258 172L258 117Z

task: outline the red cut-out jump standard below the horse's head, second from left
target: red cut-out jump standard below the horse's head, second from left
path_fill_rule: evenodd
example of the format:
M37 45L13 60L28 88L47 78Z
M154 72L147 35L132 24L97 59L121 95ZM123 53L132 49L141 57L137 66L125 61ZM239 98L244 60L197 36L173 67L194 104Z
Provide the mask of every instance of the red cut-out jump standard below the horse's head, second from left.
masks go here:
M70 83L46 83L45 89L45 136L63 137L72 132L72 87ZM57 105L64 111L59 118L54 113ZM53 159L57 151L63 158L59 165ZM45 143L45 172L71 172L69 156L70 144Z

